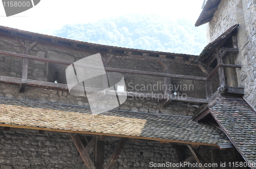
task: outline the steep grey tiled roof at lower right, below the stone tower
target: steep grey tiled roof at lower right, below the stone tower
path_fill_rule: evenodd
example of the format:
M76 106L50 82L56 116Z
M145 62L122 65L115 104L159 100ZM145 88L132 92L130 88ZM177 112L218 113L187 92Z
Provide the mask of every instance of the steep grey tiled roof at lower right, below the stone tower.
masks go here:
M242 98L223 97L210 112L245 160L256 164L255 111Z

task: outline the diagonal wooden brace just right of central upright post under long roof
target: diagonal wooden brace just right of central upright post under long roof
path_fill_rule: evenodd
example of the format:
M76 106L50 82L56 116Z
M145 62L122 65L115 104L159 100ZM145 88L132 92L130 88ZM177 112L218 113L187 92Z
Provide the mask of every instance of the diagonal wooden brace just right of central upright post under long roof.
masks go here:
M114 163L116 162L119 154L121 153L125 143L127 141L127 138L121 138L115 151L113 152L113 154L111 155L108 163L106 163L104 169L111 169L114 166Z

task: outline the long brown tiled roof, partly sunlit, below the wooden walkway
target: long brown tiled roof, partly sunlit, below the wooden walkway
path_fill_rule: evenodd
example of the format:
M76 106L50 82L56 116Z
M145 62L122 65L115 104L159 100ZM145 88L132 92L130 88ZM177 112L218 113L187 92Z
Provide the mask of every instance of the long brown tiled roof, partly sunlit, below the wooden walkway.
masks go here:
M0 98L0 126L6 125L158 138L169 142L230 143L223 131L212 125L193 122L191 117L123 110L91 115L90 108L84 106Z

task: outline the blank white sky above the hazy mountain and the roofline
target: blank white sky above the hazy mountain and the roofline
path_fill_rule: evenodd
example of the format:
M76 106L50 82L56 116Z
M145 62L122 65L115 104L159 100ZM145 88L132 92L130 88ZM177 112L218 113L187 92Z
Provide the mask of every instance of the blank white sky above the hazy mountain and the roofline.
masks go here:
M41 0L34 8L6 17L0 4L0 25L20 30L52 34L65 24L88 23L111 16L134 13L156 13L172 18L188 18L196 22L203 0L158 1L87 1Z

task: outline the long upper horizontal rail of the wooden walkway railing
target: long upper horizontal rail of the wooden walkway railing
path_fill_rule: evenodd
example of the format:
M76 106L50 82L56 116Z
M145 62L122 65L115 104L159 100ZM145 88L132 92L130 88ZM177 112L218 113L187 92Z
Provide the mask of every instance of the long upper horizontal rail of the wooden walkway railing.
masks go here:
M28 59L31 59L31 60L42 61L42 62L49 62L49 63L56 63L56 64L62 64L62 65L71 65L72 64L72 62L52 60L52 59L48 59L48 58L33 57L33 56L27 55L27 54L19 54L19 53L13 53L13 52L2 51L2 50L0 50L0 54L9 55L11 57L28 58ZM85 68L91 68L91 69L100 69L100 70L102 70L101 67L97 67L97 66L89 66L89 65L82 65L82 64L77 64L77 66L85 67ZM206 81L205 77L186 76L186 75L158 73L158 72L147 72L147 71L139 71L139 70L127 70L127 69L118 69L118 68L105 68L105 71L108 71L108 72L119 72L119 73L131 73L131 74L141 74L141 75L148 75L148 76L173 77L173 78L188 79L188 80Z

